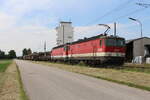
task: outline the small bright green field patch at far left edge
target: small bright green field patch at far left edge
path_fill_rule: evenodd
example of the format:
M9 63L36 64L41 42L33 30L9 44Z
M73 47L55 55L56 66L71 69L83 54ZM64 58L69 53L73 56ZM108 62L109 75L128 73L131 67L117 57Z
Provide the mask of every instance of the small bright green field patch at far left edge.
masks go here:
M11 63L12 60L0 60L0 72L5 72L5 70Z

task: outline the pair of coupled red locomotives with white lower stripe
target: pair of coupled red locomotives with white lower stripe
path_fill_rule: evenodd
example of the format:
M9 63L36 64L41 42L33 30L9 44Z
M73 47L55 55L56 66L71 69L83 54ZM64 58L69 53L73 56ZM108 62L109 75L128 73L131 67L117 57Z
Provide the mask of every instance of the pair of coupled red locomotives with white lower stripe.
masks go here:
M52 61L65 61L86 64L124 63L125 39L116 36L98 35L54 47L51 51Z

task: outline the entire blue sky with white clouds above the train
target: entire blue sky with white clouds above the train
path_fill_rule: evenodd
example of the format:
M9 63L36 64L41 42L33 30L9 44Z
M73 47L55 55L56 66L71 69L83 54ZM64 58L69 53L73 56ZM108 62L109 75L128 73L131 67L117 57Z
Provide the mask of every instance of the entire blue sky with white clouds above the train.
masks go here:
M117 23L117 35L128 39L140 37L140 26L128 17L143 24L143 36L150 37L149 0L0 0L0 50L14 49L18 56L23 48L33 52L56 46L56 30L60 21L72 21L74 40L104 32L98 24L111 27Z

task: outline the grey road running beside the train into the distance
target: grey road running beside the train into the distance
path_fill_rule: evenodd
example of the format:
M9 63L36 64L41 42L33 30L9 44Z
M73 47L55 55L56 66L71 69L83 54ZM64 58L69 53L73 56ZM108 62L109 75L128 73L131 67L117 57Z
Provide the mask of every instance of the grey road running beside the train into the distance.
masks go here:
M30 100L150 100L148 91L28 61L16 64Z

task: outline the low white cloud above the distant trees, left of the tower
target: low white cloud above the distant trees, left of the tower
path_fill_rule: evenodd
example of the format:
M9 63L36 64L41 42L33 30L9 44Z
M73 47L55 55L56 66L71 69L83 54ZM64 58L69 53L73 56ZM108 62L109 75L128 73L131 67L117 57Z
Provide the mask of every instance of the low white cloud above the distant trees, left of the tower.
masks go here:
M13 33L13 34L10 34ZM15 49L21 55L23 48L31 48L33 51L43 51L44 42L47 42L47 50L55 46L56 31L41 26L24 26L5 31L0 37L0 48L6 51Z

